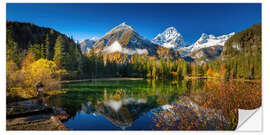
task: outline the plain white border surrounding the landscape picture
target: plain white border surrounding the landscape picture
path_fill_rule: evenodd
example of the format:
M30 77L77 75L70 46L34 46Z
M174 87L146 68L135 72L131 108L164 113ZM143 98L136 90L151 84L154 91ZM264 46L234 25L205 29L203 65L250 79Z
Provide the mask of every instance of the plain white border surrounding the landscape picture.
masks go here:
M235 131L6 131L6 3L262 3L262 132L235 132ZM102 135L141 135L141 134L270 134L270 0L0 0L0 135L63 135L63 134L102 134ZM33 11L34 12L34 11ZM254 123L256 124L256 123Z

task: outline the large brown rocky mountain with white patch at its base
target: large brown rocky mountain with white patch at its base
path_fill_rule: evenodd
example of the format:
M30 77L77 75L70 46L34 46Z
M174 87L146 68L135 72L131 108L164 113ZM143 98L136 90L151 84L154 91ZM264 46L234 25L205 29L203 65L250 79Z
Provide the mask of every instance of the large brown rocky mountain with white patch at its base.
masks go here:
M98 39L93 48L96 52L104 53L120 52L127 55L154 55L157 45L142 37L131 26L122 23Z

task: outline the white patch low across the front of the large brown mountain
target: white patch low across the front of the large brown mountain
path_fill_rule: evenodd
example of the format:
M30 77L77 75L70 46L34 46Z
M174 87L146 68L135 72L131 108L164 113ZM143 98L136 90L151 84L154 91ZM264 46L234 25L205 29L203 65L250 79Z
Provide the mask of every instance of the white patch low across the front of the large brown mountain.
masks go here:
M140 49L140 48L128 49L128 48L123 48L118 41L114 41L110 46L104 48L103 51L106 52L106 53L121 52L121 53L129 54L129 55L133 55L133 54L139 54L139 55L148 54L147 49Z

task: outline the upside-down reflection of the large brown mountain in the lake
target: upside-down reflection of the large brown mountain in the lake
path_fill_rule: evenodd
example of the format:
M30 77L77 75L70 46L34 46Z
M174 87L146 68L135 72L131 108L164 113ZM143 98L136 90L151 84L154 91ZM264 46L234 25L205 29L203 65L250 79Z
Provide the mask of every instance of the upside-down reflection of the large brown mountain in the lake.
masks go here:
M87 114L101 114L117 127L126 129L144 112L151 109L145 99L127 98L123 100L107 100L96 105L82 105L82 111Z

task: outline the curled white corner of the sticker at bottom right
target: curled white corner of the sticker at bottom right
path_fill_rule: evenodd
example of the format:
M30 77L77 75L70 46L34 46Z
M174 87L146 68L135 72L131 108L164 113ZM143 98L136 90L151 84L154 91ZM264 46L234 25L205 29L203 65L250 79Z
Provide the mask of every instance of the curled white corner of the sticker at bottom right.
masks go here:
M262 107L253 110L238 109L236 131L262 131Z

